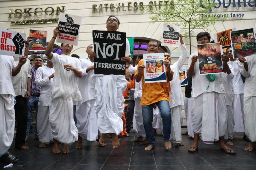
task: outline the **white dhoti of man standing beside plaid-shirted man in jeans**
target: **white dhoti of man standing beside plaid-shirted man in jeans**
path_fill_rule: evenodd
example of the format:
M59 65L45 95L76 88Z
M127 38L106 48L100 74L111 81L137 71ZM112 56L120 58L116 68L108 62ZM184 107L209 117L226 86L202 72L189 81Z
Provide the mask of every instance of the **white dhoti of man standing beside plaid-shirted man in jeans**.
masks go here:
M52 129L49 123L50 110L51 106L43 106L43 101L39 101L36 128L39 142L45 144L52 143Z

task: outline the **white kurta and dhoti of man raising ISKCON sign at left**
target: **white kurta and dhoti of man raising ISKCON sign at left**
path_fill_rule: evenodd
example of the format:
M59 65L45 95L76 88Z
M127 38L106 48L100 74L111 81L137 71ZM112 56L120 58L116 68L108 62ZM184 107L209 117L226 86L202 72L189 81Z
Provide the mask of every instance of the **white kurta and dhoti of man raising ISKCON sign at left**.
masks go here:
M49 122L53 138L68 144L78 139L78 132L73 119L73 104L81 102L82 97L77 86L75 73L65 70L63 66L70 64L77 70L82 70L81 63L77 58L56 53L52 53L51 61L55 75Z

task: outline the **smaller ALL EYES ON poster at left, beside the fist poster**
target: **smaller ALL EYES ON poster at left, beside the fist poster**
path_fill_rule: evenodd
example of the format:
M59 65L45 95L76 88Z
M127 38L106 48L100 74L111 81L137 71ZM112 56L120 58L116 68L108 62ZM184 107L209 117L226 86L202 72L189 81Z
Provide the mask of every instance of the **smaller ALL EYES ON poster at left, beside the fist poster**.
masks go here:
M29 30L29 36L32 36L33 40L29 42L28 51L45 51L46 31Z

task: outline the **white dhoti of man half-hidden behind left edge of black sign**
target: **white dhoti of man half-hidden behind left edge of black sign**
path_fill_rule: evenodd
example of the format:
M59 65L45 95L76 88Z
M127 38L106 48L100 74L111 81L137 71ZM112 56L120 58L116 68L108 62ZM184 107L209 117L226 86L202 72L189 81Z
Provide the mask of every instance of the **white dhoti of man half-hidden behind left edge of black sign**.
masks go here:
M95 141L98 138L98 122L94 103L95 99L92 99L76 105L78 135L89 141Z

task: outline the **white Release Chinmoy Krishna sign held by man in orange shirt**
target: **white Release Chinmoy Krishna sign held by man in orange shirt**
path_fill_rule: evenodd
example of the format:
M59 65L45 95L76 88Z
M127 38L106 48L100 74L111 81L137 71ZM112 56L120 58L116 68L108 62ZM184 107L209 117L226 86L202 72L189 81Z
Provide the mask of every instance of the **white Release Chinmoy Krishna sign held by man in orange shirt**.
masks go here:
M165 82L164 53L143 54L145 83Z

